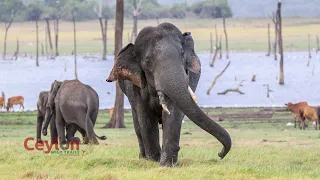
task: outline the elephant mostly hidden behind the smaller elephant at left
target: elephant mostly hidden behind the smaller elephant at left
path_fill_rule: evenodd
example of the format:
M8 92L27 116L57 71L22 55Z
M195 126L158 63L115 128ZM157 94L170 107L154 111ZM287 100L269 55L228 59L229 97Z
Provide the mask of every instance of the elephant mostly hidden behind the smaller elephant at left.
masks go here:
M39 99L37 102L37 141L42 141L41 140L41 128L42 124L45 118L46 114L46 106L48 102L48 97L49 97L49 91L42 91L39 94ZM78 138L74 139L74 134L76 133L76 130L78 130L78 126L76 124L70 124L66 127L67 130L67 140L68 142L72 140L77 140ZM80 133L84 136L85 132L80 131ZM58 143L58 134L57 134L57 129L56 129L56 123L55 123L55 113L52 114L51 119L50 119L50 134L51 134L51 143L56 144Z

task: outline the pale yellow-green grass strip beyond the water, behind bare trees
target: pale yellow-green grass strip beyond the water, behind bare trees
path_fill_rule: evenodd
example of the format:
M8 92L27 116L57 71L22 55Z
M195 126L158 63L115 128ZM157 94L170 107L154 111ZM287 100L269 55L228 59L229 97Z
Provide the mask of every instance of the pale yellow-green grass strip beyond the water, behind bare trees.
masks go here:
M210 48L210 32L214 35L214 26L217 25L218 33L224 41L222 19L160 19L160 22L171 22L181 31L192 32L195 39L196 50L208 51ZM229 36L229 49L231 51L266 51L267 50L267 26L271 26L271 41L274 41L274 25L271 19L228 19L227 31ZM0 34L4 34L4 25L0 24ZM156 26L156 20L141 20L138 27L141 30L145 26ZM45 23L39 23L39 41L45 44ZM51 23L52 38L54 39L53 23ZM285 50L302 51L308 48L308 33L311 35L311 47L316 47L316 35L319 34L320 23L317 18L286 18L283 20L283 42ZM132 31L132 20L126 19L124 24L123 43L128 43L128 34ZM3 42L4 36L0 37ZM20 54L35 54L35 23L13 23L8 34L8 56L16 49L16 39L20 40ZM100 40L100 25L97 21L77 23L78 53L100 53L102 42ZM113 52L114 47L114 20L108 24L108 53ZM60 23L59 33L60 54L70 54L73 50L73 26L70 22ZM225 46L223 46L224 49ZM39 46L41 52L41 45ZM3 52L3 43L0 44Z

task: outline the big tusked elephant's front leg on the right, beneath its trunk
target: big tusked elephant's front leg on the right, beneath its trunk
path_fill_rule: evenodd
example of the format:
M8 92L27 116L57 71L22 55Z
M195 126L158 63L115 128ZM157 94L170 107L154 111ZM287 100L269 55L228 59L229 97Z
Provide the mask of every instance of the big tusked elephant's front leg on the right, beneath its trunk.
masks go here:
M165 102L164 96L160 98L160 103ZM162 99L162 100L161 100ZM169 102L170 100L166 101ZM178 162L178 152L180 150L180 132L181 124L184 114L180 109L171 101L168 109L170 114L162 112L162 123L163 123L163 140L162 140L162 151L161 151L161 166L175 166Z

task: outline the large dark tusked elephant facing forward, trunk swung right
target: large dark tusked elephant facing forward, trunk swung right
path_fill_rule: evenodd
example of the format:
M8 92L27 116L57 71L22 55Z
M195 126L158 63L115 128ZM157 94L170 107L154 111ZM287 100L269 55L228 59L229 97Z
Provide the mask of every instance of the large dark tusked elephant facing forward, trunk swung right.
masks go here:
M140 157L160 160L161 166L176 165L184 114L223 144L221 158L229 152L228 132L211 120L192 98L189 87L196 89L200 73L191 34L182 34L170 23L142 29L135 44L128 44L120 51L107 81L118 80L129 99ZM163 127L162 150L159 122Z

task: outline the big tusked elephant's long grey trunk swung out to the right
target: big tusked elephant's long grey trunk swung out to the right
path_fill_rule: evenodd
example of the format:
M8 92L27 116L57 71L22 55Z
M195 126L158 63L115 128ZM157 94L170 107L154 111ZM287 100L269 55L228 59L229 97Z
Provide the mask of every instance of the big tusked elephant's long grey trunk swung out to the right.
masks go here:
M188 82L183 67L181 69L174 68L175 66L172 65L166 67L166 75L155 78L157 91L163 92L172 101L176 102L189 119L217 138L224 146L218 155L221 159L224 158L230 151L232 144L229 133L210 119L194 102L188 91Z

